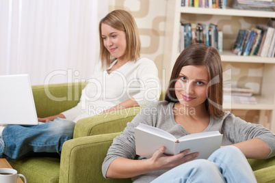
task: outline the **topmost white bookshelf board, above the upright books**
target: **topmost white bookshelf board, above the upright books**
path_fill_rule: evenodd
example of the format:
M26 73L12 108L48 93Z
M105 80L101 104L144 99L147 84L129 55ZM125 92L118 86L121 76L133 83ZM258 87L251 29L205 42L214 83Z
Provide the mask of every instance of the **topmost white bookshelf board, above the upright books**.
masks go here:
M250 17L261 17L261 18L275 18L275 12L254 11L254 10L235 10L230 8L218 9L218 8L181 7L179 11L185 14L213 14L213 15L222 15L222 16L250 16Z

